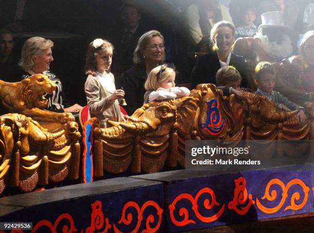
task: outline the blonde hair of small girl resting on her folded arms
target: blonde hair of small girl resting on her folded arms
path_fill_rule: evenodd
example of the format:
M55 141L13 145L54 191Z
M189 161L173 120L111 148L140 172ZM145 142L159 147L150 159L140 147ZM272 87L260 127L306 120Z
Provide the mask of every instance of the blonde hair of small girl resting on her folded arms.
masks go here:
M160 88L159 82L165 80L171 73L175 73L175 68L167 65L162 65L152 69L145 82L146 91L156 91Z

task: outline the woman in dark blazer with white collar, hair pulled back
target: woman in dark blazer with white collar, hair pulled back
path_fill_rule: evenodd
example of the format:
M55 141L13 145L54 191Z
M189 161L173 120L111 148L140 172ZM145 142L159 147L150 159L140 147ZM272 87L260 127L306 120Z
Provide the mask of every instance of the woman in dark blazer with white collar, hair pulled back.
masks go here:
M210 37L213 42L212 51L198 57L197 63L192 71L191 87L195 88L200 83L216 83L216 73L224 66L233 66L242 76L242 87L247 87L248 66L244 57L230 52L234 43L235 28L226 21L215 24Z

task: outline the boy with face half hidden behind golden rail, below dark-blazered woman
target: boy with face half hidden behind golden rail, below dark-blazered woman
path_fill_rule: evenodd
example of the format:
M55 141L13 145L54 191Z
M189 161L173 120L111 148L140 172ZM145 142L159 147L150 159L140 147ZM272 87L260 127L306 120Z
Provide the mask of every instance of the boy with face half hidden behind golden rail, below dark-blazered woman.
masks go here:
M221 89L225 96L234 94L238 97L242 97L241 91L252 92L248 88L240 88L241 80L241 74L232 66L222 67L216 74L216 82L218 83L217 88Z

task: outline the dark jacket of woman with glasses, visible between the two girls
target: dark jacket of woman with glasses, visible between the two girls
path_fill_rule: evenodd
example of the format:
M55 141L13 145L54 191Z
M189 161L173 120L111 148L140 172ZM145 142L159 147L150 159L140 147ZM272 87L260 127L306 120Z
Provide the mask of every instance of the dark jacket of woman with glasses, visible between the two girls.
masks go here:
M133 66L123 75L123 89L125 92L125 100L127 102L125 109L129 116L144 104L144 94L146 92L144 84L146 79L147 74L145 66L141 65Z

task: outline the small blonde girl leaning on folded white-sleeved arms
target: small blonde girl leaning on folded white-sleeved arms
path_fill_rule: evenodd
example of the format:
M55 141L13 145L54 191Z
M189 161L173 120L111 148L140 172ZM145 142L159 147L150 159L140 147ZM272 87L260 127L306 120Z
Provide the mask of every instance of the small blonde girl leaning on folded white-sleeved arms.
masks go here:
M166 64L152 69L145 82L144 103L152 100L175 99L189 95L189 89L175 87L174 79L174 68Z

